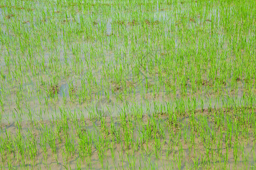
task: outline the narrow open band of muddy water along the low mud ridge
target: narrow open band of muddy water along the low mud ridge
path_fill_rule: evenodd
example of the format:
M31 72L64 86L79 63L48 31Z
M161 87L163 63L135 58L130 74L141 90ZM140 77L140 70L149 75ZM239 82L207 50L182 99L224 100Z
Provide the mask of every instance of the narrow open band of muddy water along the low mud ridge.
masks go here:
M131 111L134 107L139 107L142 109L143 113L153 114L158 112L158 108L167 108L170 107L170 111L185 111L187 109L208 109L208 108L221 108L221 107L230 107L236 105L237 107L243 105L249 105L249 101L245 100L243 96L238 97L219 97L218 99L208 99L208 97L203 97L199 99L172 99L172 100L148 100L143 99L138 96L137 101L121 101L115 100L113 94L108 100L105 96L100 97L100 99L93 100L89 104L79 104L79 103L66 103L63 104L64 97L69 98L68 84L65 83L60 86L60 93L58 94L58 101L47 106L44 105L43 100L38 100L34 98L34 101L30 103L30 107L24 107L22 112L17 111L16 105L10 105L5 109L5 112L2 114L2 122L15 122L16 120L51 120L60 116L61 111L65 110L73 114L76 114L77 118L82 117L97 117L102 116L118 116L122 113L123 107L127 104L129 110ZM111 100L111 98L113 100ZM48 98L52 100L51 98ZM231 99L231 100L230 100ZM29 99L27 99L29 100ZM228 103L229 102L229 103ZM40 104L41 103L41 104ZM255 101L254 101L255 103ZM193 107L193 108L191 108ZM16 109L15 109L16 108ZM32 115L32 117L31 117Z

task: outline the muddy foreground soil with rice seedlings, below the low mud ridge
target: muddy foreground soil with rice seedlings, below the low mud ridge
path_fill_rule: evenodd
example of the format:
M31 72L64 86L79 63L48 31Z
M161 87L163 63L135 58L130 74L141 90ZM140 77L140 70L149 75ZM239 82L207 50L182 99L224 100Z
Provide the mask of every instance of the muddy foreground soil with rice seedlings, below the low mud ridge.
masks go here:
M1 164L43 169L255 168L255 112L225 108L93 119L66 115L1 124Z

